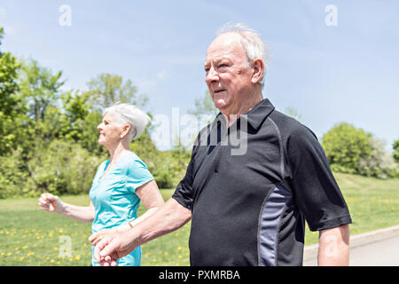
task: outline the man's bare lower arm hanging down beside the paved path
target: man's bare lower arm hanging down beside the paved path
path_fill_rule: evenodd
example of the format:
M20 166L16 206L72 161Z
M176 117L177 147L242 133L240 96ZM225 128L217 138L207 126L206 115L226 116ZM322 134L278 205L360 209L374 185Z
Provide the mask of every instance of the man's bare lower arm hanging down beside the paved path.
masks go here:
M318 237L319 266L349 264L349 225L322 230Z

